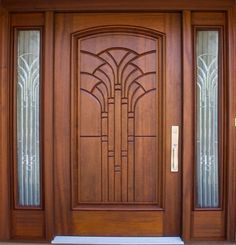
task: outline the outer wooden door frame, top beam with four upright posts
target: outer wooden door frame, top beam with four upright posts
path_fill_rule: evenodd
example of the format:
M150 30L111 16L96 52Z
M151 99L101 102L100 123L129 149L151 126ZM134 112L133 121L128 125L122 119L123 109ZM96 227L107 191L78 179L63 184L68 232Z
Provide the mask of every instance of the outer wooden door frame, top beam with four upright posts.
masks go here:
M192 13L194 11L224 11L227 18L227 197L226 197L226 220L227 220L227 240L235 240L236 233L236 134L235 134L235 115L236 115L236 3L233 0L217 0L209 3L204 0L147 0L136 1L132 4L131 0L117 2L106 2L97 0L96 3L89 1L76 2L74 0L52 0L48 3L46 0L37 2L35 6L33 1L22 0L2 0L0 8L0 212L3 214L0 220L0 239L9 240L11 238L11 201L10 201L10 165L11 165L11 128L9 127L10 117L10 27L14 22L15 15L24 13L41 13L44 16L43 25L45 30L45 45L43 57L44 61L44 79L49 83L49 89L44 93L44 106L51 113L44 118L44 123L49 125L44 131L44 181L45 186L45 237L42 239L51 239L53 237L54 214L52 211L53 197L53 32L54 32L54 13L58 11L76 12L149 12L149 11L182 11L182 30L183 30L183 181L182 181L182 207L183 207L183 232L184 240L191 240L192 224L192 205L193 205L193 167L189 164L193 159L193 120L189 117L189 110L193 108L191 94L193 81L193 57L192 57ZM17 13L17 14L15 14ZM22 25L24 21L22 20ZM188 95L188 96L187 96ZM190 178L189 176L192 176Z

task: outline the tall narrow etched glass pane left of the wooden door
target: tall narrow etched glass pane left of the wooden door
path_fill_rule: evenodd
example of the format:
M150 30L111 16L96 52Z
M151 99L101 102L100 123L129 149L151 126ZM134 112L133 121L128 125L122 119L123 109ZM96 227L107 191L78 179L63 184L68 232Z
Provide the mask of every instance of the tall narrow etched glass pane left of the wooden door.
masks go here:
M18 204L40 205L40 31L18 31Z

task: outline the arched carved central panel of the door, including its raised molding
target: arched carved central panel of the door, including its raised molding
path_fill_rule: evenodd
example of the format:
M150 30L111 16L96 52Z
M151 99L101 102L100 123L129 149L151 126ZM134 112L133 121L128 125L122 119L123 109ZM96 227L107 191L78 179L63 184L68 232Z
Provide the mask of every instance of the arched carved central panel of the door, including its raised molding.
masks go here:
M160 204L163 38L134 27L73 35L74 208Z

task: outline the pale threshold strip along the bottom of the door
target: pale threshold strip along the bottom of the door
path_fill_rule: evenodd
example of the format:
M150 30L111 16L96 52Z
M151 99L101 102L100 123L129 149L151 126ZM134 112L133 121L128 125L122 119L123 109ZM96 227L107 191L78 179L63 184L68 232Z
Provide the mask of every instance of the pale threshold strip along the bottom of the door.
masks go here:
M184 244L180 237L94 237L94 236L56 236L52 244L99 244L99 245L155 245L155 244Z

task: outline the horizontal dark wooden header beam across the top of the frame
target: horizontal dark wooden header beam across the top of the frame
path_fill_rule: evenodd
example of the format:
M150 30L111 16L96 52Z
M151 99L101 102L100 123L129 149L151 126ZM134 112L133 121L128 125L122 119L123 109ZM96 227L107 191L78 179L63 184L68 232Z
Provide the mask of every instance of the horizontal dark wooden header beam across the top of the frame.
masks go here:
M154 10L183 10L183 9L204 9L217 10L226 9L235 4L233 0L147 0L135 1L86 1L86 0L3 0L2 4L11 11L40 11L40 10L72 10L72 11L154 11Z

